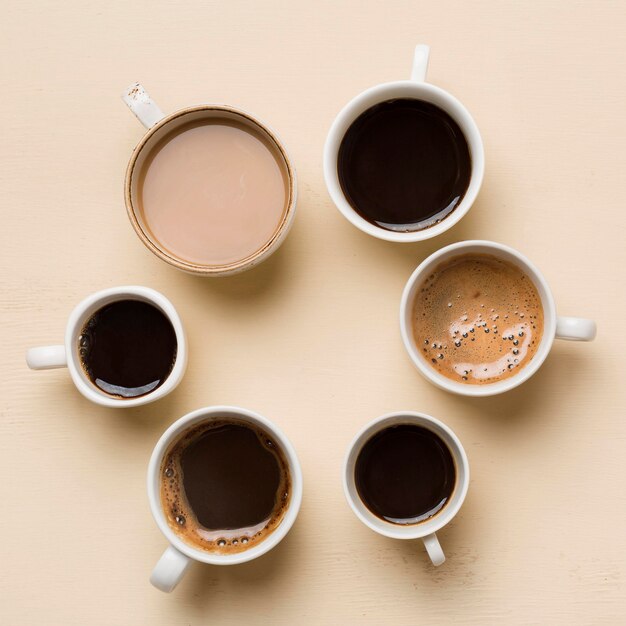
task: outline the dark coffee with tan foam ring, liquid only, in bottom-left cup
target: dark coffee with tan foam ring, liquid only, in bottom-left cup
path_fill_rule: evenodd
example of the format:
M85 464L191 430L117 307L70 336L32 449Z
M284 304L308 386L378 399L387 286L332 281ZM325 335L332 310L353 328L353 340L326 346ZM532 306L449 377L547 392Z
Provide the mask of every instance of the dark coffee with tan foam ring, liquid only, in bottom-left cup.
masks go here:
M217 420L187 431L161 465L161 505L172 530L193 547L243 552L263 541L287 509L285 456L265 431Z

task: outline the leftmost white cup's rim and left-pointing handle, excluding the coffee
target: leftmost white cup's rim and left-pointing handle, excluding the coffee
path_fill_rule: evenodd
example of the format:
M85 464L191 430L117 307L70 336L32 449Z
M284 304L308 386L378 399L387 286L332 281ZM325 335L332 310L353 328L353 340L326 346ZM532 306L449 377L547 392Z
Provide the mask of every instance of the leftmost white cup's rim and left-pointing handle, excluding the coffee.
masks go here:
M176 361L169 376L154 391L136 398L116 398L98 389L87 377L78 354L78 340L87 320L102 307L119 300L139 300L152 304L167 316L176 333ZM67 321L63 345L31 348L26 353L26 363L33 370L67 367L78 391L92 402L108 407L129 408L154 402L177 387L187 367L187 342L180 317L164 295L148 287L113 287L91 294L76 306Z

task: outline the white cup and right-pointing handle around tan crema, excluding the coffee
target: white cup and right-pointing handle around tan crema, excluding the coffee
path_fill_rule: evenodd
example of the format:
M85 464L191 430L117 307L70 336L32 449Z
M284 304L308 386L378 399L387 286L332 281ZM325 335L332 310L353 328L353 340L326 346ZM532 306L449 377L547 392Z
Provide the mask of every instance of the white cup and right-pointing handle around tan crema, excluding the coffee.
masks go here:
M437 266L452 257L463 254L490 254L516 265L533 281L543 306L543 336L532 360L510 378L485 385L470 385L456 382L437 372L421 355L413 336L412 312L417 290L426 278L436 271ZM431 254L411 274L400 302L400 332L404 347L409 353L411 360L426 379L445 391L476 397L504 393L521 385L541 367L552 348L555 337L558 339L569 339L570 341L592 341L596 336L596 324L589 319L557 316L554 298L545 278L517 250L493 241L460 241Z

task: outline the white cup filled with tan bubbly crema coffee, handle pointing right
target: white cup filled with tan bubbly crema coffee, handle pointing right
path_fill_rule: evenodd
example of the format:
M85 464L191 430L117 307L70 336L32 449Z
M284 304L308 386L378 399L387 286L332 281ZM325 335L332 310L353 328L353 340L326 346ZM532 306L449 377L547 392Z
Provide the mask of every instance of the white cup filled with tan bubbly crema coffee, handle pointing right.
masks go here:
M596 324L557 315L545 278L517 250L461 241L413 272L400 303L400 331L427 380L476 397L521 385L541 367L555 338L592 341Z

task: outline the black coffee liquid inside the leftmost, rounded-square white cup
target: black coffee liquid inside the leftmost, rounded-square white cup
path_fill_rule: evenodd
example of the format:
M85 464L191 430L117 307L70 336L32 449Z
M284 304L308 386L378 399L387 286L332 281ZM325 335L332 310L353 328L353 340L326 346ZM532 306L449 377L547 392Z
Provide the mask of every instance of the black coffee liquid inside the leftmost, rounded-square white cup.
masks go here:
M89 380L121 398L143 396L162 385L172 371L178 345L167 316L139 300L120 300L96 311L78 344Z

